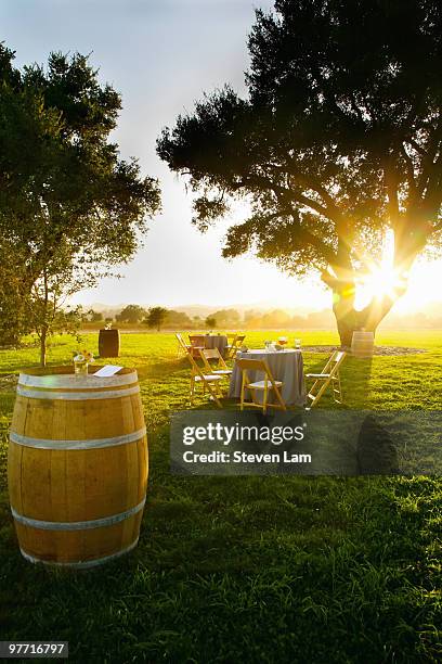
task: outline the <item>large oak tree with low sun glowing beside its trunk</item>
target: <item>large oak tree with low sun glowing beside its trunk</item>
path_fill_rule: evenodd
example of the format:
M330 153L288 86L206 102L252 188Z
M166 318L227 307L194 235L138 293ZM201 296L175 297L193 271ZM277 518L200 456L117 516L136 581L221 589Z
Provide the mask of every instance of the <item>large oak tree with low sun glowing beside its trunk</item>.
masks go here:
M188 178L205 230L245 199L223 255L255 250L334 294L343 345L375 331L442 220L442 5L435 0L276 0L257 11L248 94L206 95L157 151ZM394 233L392 289L354 307Z

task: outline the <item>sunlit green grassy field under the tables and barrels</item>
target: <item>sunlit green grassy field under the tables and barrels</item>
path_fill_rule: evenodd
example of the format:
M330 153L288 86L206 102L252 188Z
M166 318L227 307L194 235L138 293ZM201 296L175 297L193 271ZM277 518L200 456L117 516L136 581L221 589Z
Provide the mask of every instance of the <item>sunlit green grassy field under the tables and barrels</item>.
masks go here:
M260 347L269 336L248 333L247 342ZM98 335L84 337L98 352ZM337 343L332 332L301 337ZM385 333L377 343L427 353L349 358L346 406L442 409L440 331ZM76 346L55 340L51 363L69 361ZM306 353L307 370L324 359ZM170 475L169 414L186 408L188 390L172 334L122 337L151 451L139 547L82 573L25 562L5 478L14 394L1 379L37 360L31 345L0 352L0 639L68 640L78 663L440 661L441 481Z

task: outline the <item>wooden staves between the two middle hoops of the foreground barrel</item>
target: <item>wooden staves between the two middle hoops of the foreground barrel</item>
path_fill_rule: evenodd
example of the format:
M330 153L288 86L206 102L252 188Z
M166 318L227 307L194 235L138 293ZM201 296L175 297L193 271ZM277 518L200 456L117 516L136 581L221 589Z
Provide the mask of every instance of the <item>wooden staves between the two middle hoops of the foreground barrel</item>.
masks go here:
M11 505L18 513L41 521L83 521L84 514L93 520L123 512L139 505L146 493L144 446L143 438L96 450L54 451L12 445Z

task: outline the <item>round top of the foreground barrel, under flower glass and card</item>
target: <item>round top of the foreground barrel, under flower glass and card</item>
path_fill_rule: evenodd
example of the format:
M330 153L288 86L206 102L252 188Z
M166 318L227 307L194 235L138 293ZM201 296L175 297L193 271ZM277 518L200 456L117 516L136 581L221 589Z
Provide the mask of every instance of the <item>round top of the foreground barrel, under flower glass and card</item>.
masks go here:
M130 385L138 382L136 370L127 367L123 367L118 373L109 378L94 378L93 374L101 368L102 366L100 365L93 365L89 368L88 375L74 373L74 367L70 365L25 369L20 373L18 385L53 390L60 387L67 387L70 390L94 390L99 387Z

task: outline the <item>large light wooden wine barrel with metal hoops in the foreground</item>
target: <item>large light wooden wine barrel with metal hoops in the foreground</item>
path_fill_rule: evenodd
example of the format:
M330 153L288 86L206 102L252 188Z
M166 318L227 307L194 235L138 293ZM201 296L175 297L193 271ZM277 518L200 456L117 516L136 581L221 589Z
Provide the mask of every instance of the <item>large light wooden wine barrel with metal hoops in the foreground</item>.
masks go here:
M147 442L136 371L20 374L8 482L23 556L90 567L136 546Z

